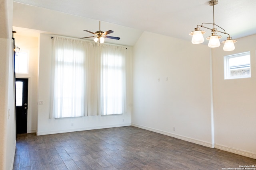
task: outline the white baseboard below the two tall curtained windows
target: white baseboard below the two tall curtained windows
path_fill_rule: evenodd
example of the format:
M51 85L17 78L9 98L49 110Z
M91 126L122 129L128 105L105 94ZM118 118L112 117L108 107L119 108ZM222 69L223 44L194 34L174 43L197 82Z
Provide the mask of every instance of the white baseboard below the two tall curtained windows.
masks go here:
M84 127L78 129L66 129L66 130L59 130L59 131L44 131L44 132L36 132L36 135L50 135L56 133L67 133L67 132L76 132L76 131L87 131L93 129L104 129L104 128L112 128L112 127L122 127L122 126L130 126L130 123L120 124L120 125L106 125L106 126L95 126L95 127Z

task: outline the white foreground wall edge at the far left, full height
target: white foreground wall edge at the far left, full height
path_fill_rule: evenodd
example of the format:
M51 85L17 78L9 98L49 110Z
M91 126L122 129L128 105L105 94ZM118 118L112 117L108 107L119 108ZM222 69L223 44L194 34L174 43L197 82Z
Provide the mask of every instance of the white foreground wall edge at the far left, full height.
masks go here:
M16 146L12 0L0 0L0 169L12 170Z

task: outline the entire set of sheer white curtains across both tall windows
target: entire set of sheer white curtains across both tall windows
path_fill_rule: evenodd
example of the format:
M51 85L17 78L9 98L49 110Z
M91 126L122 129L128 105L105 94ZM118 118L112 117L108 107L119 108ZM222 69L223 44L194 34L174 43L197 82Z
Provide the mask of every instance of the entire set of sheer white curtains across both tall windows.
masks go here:
M53 42L50 117L125 112L125 47L64 37Z

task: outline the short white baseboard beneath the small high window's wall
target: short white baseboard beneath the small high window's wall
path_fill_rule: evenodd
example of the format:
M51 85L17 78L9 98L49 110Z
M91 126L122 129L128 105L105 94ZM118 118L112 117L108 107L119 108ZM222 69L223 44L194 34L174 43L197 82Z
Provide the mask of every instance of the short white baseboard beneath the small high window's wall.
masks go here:
M236 149L236 148L232 148L232 147L226 147L226 146L219 145L219 144L215 144L215 148L220 149L220 150L224 150L224 151L227 151L227 152L231 152L231 153L234 153L234 154L239 154L239 155L242 155L242 156L246 156L246 157L249 157L249 158L256 159L256 153L249 152L249 151L246 151L246 150Z

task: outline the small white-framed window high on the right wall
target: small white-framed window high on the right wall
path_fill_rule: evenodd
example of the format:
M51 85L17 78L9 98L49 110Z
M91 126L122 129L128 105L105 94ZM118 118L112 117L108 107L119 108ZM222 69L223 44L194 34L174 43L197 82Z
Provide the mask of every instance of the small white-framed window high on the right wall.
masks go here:
M225 79L251 77L250 52L224 57Z

